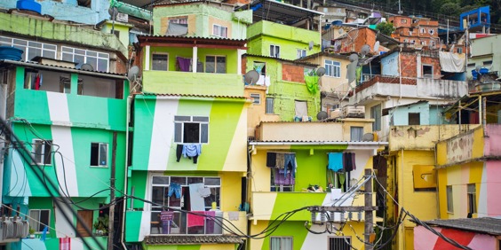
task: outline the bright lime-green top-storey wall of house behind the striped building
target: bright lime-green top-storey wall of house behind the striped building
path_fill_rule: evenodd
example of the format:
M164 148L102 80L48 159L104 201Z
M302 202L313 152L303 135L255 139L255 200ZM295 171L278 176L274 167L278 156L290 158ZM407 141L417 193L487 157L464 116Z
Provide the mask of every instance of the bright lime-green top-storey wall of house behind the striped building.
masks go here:
M321 36L318 31L291 27L269 21L259 21L247 28L249 54L270 56L270 45L280 46L281 59L297 59L297 50L306 50L306 55L321 50ZM313 42L312 50L309 43Z

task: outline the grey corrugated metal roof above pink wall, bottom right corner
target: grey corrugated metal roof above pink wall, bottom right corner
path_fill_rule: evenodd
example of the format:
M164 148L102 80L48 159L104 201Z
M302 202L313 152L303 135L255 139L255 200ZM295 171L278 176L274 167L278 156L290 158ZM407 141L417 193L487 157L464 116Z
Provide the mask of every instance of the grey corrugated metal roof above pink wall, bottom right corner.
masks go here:
M501 217L433 220L426 221L425 223L457 230L469 230L496 236L501 235Z

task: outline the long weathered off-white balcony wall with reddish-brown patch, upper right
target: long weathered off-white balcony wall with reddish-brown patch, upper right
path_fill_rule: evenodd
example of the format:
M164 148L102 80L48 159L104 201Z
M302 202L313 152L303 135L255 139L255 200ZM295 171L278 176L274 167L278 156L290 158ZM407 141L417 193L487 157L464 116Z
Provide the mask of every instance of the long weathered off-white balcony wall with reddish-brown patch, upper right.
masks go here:
M350 98L352 104L365 105L375 96L456 99L468 94L468 86L464 81L380 74L364 75L362 79L364 82L356 86Z

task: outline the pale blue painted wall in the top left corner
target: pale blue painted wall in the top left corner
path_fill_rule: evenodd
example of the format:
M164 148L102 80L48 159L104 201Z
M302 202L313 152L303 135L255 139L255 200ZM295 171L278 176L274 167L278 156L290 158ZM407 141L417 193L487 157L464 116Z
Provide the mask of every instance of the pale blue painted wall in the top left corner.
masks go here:
M0 8L15 9L17 0L4 0ZM50 15L56 20L68 20L76 23L97 24L102 20L109 20L109 1L92 0L91 7L78 6L76 0L45 0L36 1L42 4L42 14Z

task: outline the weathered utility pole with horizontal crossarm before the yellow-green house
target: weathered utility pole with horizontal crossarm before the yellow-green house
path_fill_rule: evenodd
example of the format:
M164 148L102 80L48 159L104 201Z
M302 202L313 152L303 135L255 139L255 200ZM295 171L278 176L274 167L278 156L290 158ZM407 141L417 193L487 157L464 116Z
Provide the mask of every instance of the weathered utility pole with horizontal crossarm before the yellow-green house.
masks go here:
M372 215L375 210L378 210L378 207L372 206L372 169L366 168L365 169L365 180L367 182L364 184L364 206L312 206L308 207L308 211L312 213L312 223L330 223L327 221L320 221L316 222L314 221L315 214L316 213L321 213L321 214L328 214L332 215L333 212L338 212L338 213L362 213L364 212L365 219L364 219L364 249L366 250L372 250L374 248L370 236L374 233L374 226L373 226L373 218ZM360 215L359 215L360 216ZM325 216L321 216L321 218L325 218ZM351 217L351 216L350 216ZM341 217L343 218L343 216ZM359 218L360 219L360 218ZM321 219L322 220L322 219ZM333 216L330 216L330 220L333 221L334 218ZM343 219L341 219L343 220Z

